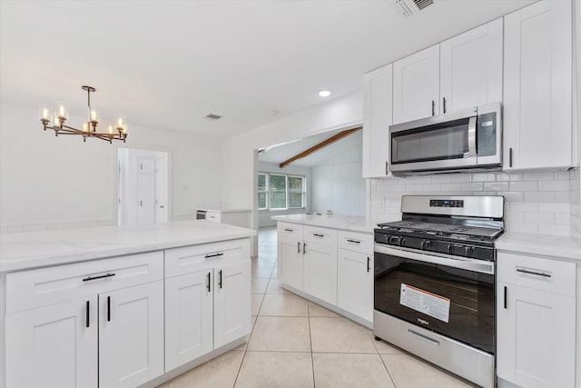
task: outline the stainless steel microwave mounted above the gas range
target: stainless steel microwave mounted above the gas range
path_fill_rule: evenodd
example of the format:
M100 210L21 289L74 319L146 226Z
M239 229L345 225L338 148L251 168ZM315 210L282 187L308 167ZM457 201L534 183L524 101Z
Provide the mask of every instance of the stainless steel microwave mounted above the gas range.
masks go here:
M499 169L502 104L390 125L389 146L393 174Z

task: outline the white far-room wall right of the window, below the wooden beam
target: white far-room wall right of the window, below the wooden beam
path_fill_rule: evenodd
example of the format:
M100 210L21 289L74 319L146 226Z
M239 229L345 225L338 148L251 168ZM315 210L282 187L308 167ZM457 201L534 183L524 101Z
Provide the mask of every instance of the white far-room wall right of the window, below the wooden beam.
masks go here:
M362 133L341 141L350 147L330 160L312 167L312 211L315 213L365 216L365 179L361 174ZM333 144L334 145L334 144ZM333 146L330 145L330 146Z

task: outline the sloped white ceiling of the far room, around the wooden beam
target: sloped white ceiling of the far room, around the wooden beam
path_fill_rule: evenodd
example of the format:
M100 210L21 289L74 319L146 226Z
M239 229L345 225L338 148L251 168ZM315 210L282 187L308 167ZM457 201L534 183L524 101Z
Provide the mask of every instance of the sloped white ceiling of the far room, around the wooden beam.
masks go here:
M281 164L291 157L308 150L310 147L329 139L333 134L339 134L342 130L313 134L295 142L267 147L264 152L258 154L261 162ZM291 163L291 165L301 165L304 167L314 167L330 161L335 156L348 152L356 147L361 148L361 131L354 132L342 139L320 148L313 154L305 156Z

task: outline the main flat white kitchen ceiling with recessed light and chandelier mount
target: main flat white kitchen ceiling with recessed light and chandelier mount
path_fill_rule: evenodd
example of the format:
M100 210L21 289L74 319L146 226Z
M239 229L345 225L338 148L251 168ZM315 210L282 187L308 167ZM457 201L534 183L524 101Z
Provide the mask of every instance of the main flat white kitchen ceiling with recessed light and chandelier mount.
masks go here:
M103 119L125 114L130 131L230 136L349 95L366 72L532 2L435 0L405 17L392 0L3 0L0 99L84 114L92 85Z

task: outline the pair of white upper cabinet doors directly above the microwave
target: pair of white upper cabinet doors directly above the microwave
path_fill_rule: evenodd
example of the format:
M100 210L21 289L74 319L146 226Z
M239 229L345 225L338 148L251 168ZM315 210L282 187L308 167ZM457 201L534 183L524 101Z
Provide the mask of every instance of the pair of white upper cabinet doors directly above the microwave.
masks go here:
M502 19L393 64L393 124L502 101Z

